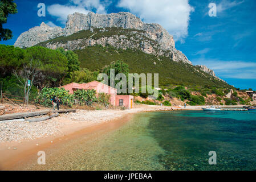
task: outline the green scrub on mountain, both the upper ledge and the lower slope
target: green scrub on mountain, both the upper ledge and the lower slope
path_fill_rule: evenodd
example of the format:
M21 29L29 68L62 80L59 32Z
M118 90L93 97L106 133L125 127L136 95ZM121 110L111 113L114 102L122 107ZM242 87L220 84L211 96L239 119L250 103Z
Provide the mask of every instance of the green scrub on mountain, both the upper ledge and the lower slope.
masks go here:
M144 35L145 31L124 28L91 28L91 30L82 30L70 36L60 36L46 42L39 43L38 46L46 47L47 44L61 43L66 44L68 41L82 40L78 47L84 47L84 41L92 38L109 38L111 36L126 36L135 44L140 43L143 39L148 40L152 47L159 49L155 40L149 39ZM141 38L137 39L137 35ZM131 39L132 38L132 39ZM136 40L135 40L136 39ZM83 41L84 40L84 41ZM139 41L139 42L138 42ZM81 44L81 45L79 45ZM157 57L152 54L144 53L139 49L117 49L112 46L89 46L84 49L74 51L79 56L80 67L89 69L91 72L101 71L108 67L113 61L121 60L128 64L130 73L159 73L160 86L183 85L183 86L212 86L215 88L232 88L229 84L219 80L216 77L201 71L200 68L170 60L169 57Z

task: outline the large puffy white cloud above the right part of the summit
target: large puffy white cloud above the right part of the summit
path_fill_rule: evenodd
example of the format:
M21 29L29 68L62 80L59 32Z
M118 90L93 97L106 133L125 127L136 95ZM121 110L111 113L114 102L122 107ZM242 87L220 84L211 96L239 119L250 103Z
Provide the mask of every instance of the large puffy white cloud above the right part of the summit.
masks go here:
M159 23L175 40L188 36L190 14L194 11L188 0L120 0L118 7L128 9L147 23Z

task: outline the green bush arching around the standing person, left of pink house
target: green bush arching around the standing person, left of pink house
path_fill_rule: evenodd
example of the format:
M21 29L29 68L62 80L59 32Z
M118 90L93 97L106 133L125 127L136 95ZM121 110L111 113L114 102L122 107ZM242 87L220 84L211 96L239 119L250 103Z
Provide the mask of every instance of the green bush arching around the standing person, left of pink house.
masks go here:
M37 104L51 107L52 106L52 97L58 97L60 100L62 100L63 104L68 105L72 107L74 104L74 95L69 94L67 90L64 88L46 88L44 87L41 92L36 97L35 102Z

